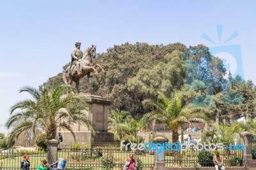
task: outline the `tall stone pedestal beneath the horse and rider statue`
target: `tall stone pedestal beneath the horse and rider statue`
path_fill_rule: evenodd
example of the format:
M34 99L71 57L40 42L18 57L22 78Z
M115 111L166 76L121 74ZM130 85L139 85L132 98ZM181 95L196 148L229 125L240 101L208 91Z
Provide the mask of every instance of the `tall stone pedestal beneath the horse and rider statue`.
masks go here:
M88 120L92 121L97 129L97 134L94 137L94 142L113 143L114 134L108 132L108 107L111 105L111 100L108 100L101 95L93 95L91 93L81 93L82 98L88 103L90 112L84 111ZM76 135L76 141L80 144L90 143L91 132L83 125L73 125L72 129ZM73 135L63 128L58 128L61 132L63 142L60 144L74 144Z

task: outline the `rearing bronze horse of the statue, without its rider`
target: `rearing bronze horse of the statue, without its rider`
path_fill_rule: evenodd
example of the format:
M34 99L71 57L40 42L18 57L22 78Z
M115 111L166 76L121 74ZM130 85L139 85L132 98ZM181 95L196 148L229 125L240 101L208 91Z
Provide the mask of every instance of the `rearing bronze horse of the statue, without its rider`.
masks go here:
M79 79L83 78L84 75L87 75L88 78L90 78L90 72L94 72L95 75L98 75L98 71L95 69L97 67L100 68L102 72L105 72L104 69L99 65L92 65L92 59L96 57L96 45L91 45L88 47L87 50L84 51L83 57L81 59L78 59L77 61L74 61L71 63L70 66L68 66L67 70L62 75L63 81L68 86L72 85L72 82L74 81L76 83L76 89L79 92ZM76 65L76 62L80 63L80 67L82 70L82 73L79 73L79 65Z

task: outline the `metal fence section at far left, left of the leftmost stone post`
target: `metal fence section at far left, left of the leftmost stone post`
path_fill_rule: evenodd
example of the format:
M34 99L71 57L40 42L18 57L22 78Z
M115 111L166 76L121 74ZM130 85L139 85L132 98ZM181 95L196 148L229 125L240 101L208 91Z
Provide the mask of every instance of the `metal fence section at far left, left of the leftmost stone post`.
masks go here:
M24 160L23 155L29 156L30 167L29 169L37 169L41 160L47 160L47 153L43 151L28 151L28 150L4 150L0 152L0 169L20 169L20 162Z

